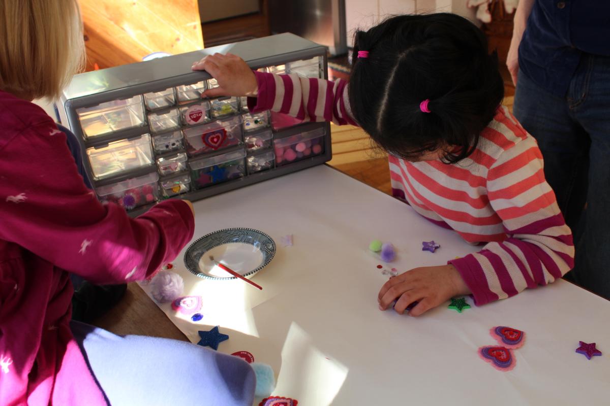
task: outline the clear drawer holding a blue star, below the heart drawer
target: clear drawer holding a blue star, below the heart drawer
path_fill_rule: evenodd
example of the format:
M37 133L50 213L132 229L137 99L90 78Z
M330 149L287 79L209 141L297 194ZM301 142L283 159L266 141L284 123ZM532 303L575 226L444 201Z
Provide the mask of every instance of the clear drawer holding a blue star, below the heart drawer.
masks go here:
M240 149L221 155L191 159L188 166L191 171L193 189L201 189L245 176L245 156L246 151Z

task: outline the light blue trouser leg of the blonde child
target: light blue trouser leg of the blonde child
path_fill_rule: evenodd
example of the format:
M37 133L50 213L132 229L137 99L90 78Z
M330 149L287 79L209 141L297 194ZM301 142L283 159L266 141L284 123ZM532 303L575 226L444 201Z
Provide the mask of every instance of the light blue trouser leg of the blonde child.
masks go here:
M167 338L70 328L111 406L251 406L256 378L239 357Z

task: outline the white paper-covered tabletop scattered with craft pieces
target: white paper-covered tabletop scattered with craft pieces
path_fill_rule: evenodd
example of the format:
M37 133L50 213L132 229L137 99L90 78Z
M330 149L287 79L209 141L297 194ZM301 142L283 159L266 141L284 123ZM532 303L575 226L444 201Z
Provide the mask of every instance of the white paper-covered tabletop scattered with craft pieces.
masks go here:
M398 248L400 271L480 248L440 228L408 205L327 166L238 189L195 203L195 237L230 227L255 228L278 245L254 276L242 281L197 278L183 264L173 271L184 295L203 296L203 320L160 308L193 342L219 325L229 340L218 351L251 352L271 365L274 394L303 406L326 405L609 405L610 302L558 281L514 298L458 313L447 304L420 318L381 312L377 293L387 276L368 251L373 239ZM294 245L280 239L293 234ZM422 251L422 241L442 246ZM148 293L148 287L144 287ZM467 299L472 304L472 299ZM493 326L526 332L512 371L479 359L495 345ZM587 360L578 341L604 354Z

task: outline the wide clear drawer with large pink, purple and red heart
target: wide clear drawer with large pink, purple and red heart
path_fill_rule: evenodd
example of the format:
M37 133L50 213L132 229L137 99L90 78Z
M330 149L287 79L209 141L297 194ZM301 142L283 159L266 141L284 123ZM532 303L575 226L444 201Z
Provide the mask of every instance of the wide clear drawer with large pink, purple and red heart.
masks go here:
M214 152L242 141L242 117L212 121L182 130L189 156Z

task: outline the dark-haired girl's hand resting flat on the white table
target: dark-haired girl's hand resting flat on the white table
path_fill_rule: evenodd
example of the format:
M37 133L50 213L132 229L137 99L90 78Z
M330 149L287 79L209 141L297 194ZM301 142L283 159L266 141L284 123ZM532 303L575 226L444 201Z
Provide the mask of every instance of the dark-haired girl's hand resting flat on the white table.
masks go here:
M468 295L462 276L453 265L414 268L390 278L379 290L379 309L386 310L396 300L394 309L403 314L409 304L418 301L409 310L410 316L419 316L450 298Z

